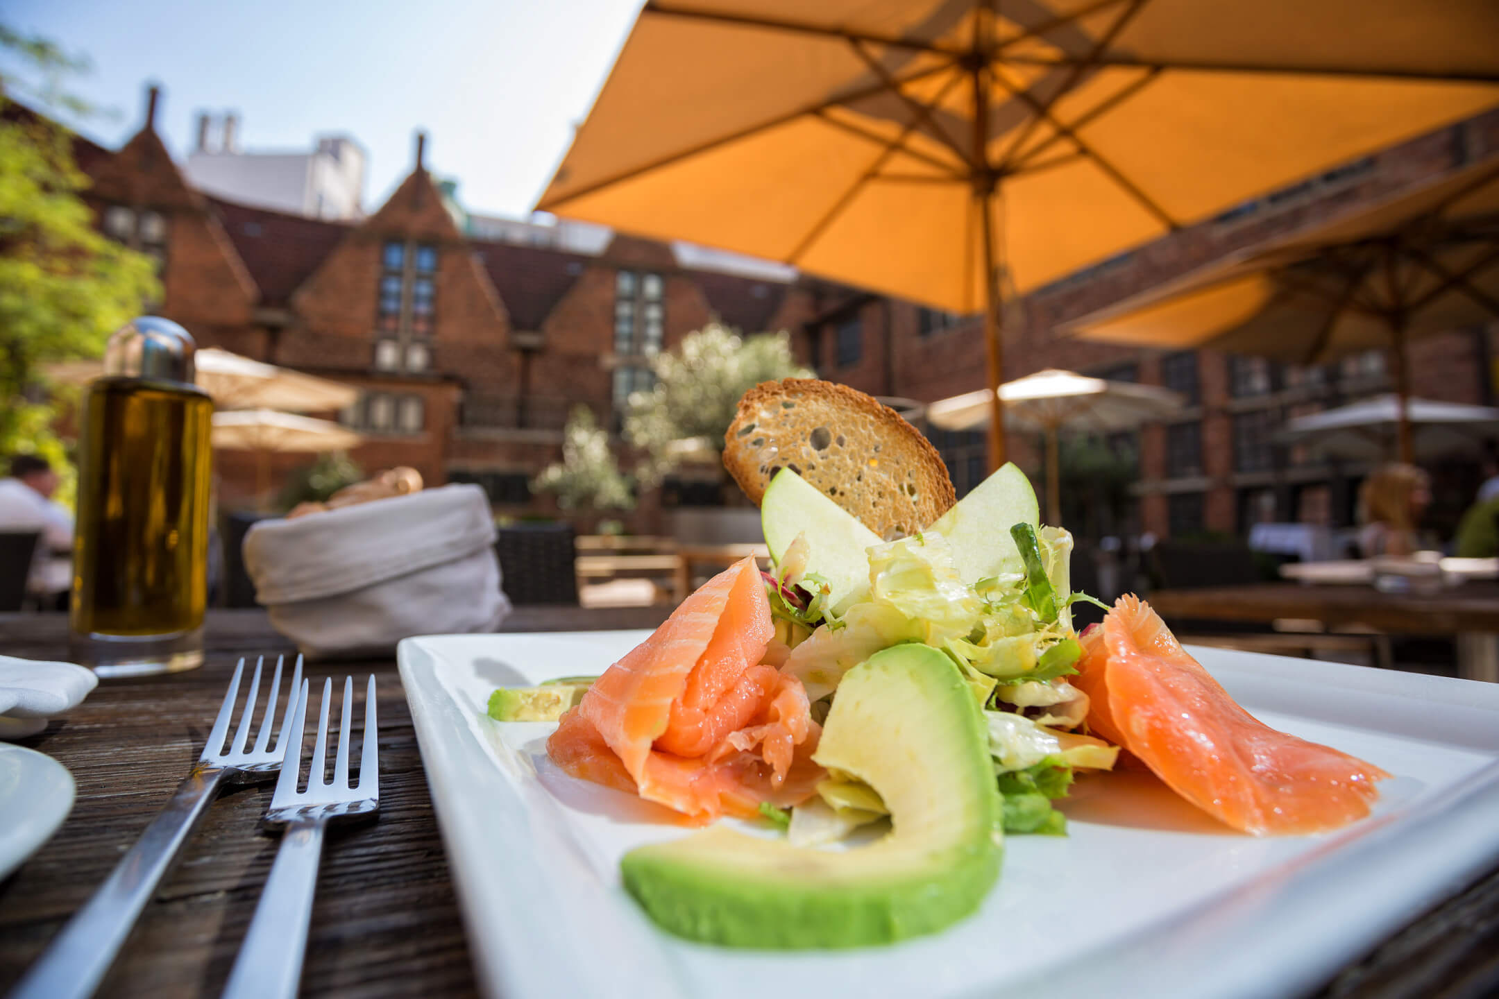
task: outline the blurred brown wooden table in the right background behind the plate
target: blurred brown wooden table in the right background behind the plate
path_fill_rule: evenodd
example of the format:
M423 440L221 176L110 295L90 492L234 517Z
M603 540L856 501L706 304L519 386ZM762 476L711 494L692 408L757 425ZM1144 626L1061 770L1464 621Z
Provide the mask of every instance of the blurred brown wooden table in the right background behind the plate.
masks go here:
M1493 583L1468 583L1433 596L1381 593L1372 586L1214 586L1156 590L1150 605L1166 623L1199 619L1268 625L1292 617L1393 635L1451 635L1457 640L1457 674L1499 683L1499 586Z

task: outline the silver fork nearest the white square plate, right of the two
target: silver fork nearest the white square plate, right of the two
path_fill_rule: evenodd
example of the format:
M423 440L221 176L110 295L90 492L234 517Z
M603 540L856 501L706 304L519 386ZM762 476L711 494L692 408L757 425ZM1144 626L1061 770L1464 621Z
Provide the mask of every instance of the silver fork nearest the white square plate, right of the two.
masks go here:
M339 726L339 755L333 780L322 779L328 749L328 707L333 680L322 683L322 713L318 717L318 743L312 750L307 789L298 792L301 741L307 729L309 684L303 681L297 698L294 738L265 821L285 825L276 863L271 864L265 891L255 906L255 918L244 935L240 956L234 959L225 999L277 999L295 996L301 980L301 960L307 951L307 924L312 897L318 890L318 861L322 857L322 830L334 819L375 815L379 810L379 749L375 726L375 677L364 693L364 749L360 753L360 782L349 786L349 722L354 713L354 677L343 680L343 720Z

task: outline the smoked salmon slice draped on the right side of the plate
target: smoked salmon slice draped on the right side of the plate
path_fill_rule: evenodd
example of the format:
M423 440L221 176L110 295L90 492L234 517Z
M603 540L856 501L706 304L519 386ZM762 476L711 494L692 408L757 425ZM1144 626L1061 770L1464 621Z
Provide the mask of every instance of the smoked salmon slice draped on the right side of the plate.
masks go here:
M1255 719L1138 596L1121 596L1082 649L1072 683L1090 698L1088 728L1237 830L1339 828L1369 815L1375 783L1390 776Z

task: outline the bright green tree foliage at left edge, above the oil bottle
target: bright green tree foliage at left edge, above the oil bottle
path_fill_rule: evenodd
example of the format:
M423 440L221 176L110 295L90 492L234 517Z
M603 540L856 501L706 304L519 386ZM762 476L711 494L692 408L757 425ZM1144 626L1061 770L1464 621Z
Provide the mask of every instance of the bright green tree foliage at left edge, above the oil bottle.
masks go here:
M51 81L39 94L84 108L55 84L78 60L3 28L0 46ZM0 76L0 111L15 90ZM66 130L30 114L0 118L0 454L42 454L64 470L42 365L99 356L109 333L160 294L150 258L94 229L79 196L87 186Z

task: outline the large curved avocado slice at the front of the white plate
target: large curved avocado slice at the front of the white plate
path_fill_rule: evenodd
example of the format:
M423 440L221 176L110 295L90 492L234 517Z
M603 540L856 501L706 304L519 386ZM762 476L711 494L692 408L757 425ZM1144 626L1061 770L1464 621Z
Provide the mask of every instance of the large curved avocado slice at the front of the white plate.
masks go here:
M983 714L947 656L905 644L850 669L814 759L866 783L892 831L833 852L718 825L625 854L625 888L678 936L754 948L889 944L979 908L1001 804Z

